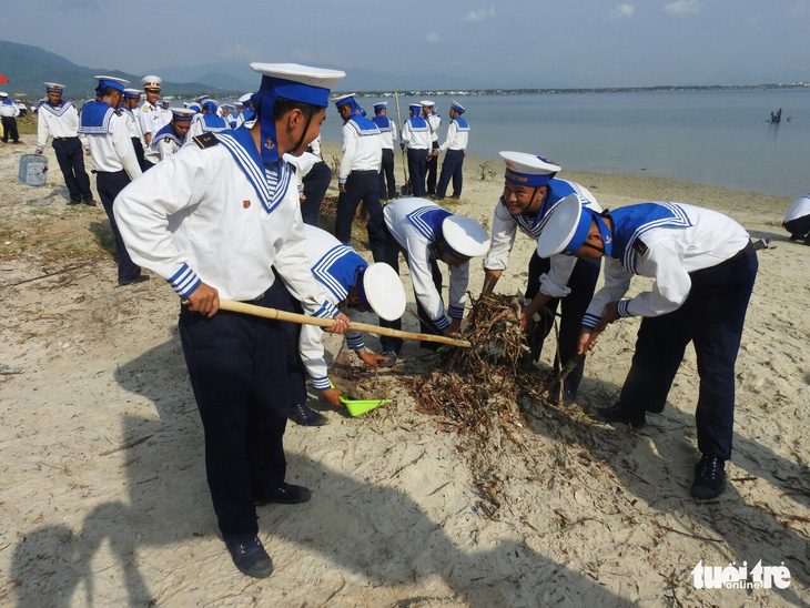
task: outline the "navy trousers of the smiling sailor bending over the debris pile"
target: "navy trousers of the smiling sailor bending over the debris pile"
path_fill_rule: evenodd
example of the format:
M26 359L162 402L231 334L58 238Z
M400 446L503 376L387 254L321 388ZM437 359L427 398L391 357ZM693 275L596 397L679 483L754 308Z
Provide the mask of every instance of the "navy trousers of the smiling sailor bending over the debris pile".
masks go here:
M588 310L591 297L594 297L594 288L599 278L600 262L578 260L568 280L568 288L570 293L565 297L553 297L546 303L545 311L540 311L540 325L535 334L538 344L533 351L535 358L540 356L543 351L543 341L554 327L554 314L561 302L561 318L559 323L559 358L563 365L568 363L571 357L576 356L579 347L579 332L583 328L583 316ZM540 274L547 273L551 268L550 259L543 259L535 252L529 260L528 284L526 286L526 297L531 300L540 291ZM554 357L554 371L559 371L559 362ZM577 365L565 379L564 389L571 397L577 396L579 383L585 373L585 361Z

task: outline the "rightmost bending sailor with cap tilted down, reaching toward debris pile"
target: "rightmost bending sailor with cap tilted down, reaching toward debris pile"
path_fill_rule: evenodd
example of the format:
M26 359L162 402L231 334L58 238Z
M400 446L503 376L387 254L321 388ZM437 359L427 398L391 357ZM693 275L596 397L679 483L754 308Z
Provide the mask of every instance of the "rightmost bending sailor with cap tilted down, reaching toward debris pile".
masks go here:
M641 317L632 364L619 401L597 408L609 423L641 427L667 403L691 342L700 376L695 419L701 458L691 495L711 499L726 486L735 413L735 362L757 277L758 245L726 215L684 203L651 202L598 213L564 199L537 242L546 257L605 257L605 285L583 320L579 352L591 351L605 327ZM625 297L634 275L655 282Z

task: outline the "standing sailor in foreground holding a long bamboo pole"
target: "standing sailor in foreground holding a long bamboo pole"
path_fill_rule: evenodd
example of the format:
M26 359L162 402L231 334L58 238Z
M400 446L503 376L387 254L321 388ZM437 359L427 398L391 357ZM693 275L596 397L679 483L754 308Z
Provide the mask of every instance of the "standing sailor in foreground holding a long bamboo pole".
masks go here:
M284 480L291 391L282 322L220 312L220 298L276 308L288 290L306 314L333 318L330 331L348 330L310 270L283 160L317 136L330 89L345 74L251 68L262 74L253 126L198 135L121 192L115 212L133 257L188 302L180 338L219 527L240 571L266 577L273 565L257 537L256 506L305 503L311 493Z

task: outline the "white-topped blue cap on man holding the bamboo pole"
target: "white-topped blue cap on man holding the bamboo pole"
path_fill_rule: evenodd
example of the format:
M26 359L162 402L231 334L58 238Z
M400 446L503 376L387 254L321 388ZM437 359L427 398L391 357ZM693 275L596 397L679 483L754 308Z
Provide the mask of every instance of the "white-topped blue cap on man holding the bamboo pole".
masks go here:
M280 98L320 108L328 105L330 91L346 72L297 63L251 63L262 74L261 91L274 90Z

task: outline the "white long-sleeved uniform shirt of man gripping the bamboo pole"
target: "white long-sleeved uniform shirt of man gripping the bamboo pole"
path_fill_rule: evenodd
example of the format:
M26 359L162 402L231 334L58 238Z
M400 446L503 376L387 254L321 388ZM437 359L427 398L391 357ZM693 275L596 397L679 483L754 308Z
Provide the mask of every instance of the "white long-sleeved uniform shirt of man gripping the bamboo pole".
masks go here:
M203 135L219 143L190 142L121 191L113 210L126 250L181 297L202 281L222 298L255 300L275 267L306 314L332 318L337 311L306 259L292 171L283 161L266 169L252 138L250 149L234 138L240 131L251 138Z

